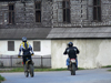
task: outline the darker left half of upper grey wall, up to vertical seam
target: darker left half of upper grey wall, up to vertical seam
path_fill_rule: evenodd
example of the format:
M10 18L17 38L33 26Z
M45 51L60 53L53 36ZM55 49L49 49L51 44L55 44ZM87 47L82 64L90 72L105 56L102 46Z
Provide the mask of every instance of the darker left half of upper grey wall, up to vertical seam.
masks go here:
M41 1L41 0L36 0ZM9 3L14 4L14 24L9 24ZM49 28L51 27L52 2L41 1L41 22L36 22L36 7L33 0L22 3L17 1L0 1L0 28Z

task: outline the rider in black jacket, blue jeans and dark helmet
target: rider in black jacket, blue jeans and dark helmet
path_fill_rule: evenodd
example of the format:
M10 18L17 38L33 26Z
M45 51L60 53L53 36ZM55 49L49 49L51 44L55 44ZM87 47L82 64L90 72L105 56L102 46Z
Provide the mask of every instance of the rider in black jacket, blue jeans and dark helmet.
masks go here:
M64 53L63 54L68 54L69 58L67 59L67 65L68 65L68 69L70 66L70 59L75 59L75 62L77 62L77 70L78 70L78 59L77 59L77 54L79 54L79 50L77 46L73 46L73 43L72 42L69 42L68 43L68 48L65 49Z

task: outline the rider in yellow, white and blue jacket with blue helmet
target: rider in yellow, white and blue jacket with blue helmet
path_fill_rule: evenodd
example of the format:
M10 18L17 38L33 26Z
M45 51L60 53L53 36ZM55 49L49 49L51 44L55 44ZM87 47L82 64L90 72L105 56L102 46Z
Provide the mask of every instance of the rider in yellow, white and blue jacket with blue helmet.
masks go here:
M22 43L20 44L20 48L19 48L18 58L20 56L21 51L22 51L22 55L23 55L22 60L23 60L24 71L27 71L26 61L27 61L27 58L32 60L31 55L33 55L33 51L32 51L32 46L29 44L29 42L27 42L27 38L26 37L22 38Z

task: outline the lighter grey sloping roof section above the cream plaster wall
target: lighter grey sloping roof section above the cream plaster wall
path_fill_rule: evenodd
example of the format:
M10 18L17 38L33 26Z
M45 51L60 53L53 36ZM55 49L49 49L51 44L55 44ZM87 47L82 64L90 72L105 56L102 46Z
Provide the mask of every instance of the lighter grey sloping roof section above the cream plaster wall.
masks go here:
M53 28L48 39L111 38L111 27L104 28Z

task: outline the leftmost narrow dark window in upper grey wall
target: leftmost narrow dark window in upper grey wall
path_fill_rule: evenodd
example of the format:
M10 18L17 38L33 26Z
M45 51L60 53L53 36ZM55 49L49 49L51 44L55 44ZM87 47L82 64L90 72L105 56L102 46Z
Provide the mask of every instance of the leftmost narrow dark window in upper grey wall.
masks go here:
M14 23L14 6L9 4L9 23Z

